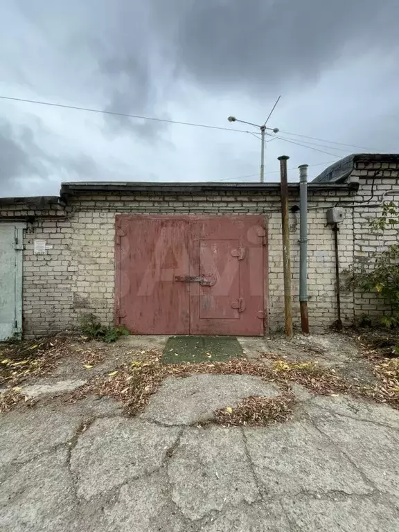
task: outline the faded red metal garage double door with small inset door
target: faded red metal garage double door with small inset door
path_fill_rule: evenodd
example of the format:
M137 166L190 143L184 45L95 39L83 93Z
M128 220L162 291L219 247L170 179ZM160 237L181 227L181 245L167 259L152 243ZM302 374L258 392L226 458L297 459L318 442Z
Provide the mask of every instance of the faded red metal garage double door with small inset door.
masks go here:
M261 216L118 215L118 323L136 334L263 335L264 235Z

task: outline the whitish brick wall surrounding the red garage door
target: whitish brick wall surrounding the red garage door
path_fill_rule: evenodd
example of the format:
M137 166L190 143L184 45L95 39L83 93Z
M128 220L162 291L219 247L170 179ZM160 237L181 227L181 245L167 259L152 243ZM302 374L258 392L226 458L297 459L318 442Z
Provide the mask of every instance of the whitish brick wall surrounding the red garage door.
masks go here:
M375 173L379 172L377 176ZM396 241L384 233L376 238L369 219L381 212L382 195L397 200L397 163L355 164L353 176L360 188L326 190L309 195L309 318L312 330L326 329L336 316L335 252L333 233L326 224L326 209L345 206L339 227L339 261L343 270L359 258L369 260L373 251ZM371 189L373 186L373 197ZM370 200L369 202L366 202ZM357 204L357 202L364 202ZM290 205L299 197L290 193ZM357 205L353 205L357 204ZM35 216L24 236L23 323L25 335L40 335L76 327L82 313L93 312L105 324L114 319L114 220L119 213L264 213L269 220L269 326L283 327L283 264L281 213L278 193L212 190L196 193L81 193L59 210L31 210L2 206L0 220ZM290 214L294 326L299 327L299 218ZM33 253L33 241L51 246L46 254ZM342 319L353 323L362 314L377 317L384 308L376 294L342 292Z

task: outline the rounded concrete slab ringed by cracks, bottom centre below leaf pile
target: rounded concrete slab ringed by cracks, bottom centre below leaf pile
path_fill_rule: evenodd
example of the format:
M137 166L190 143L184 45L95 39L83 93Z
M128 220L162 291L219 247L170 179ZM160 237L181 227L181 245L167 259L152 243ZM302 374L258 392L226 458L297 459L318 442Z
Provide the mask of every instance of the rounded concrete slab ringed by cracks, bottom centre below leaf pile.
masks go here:
M172 500L190 520L259 497L241 429L187 428L170 458Z

